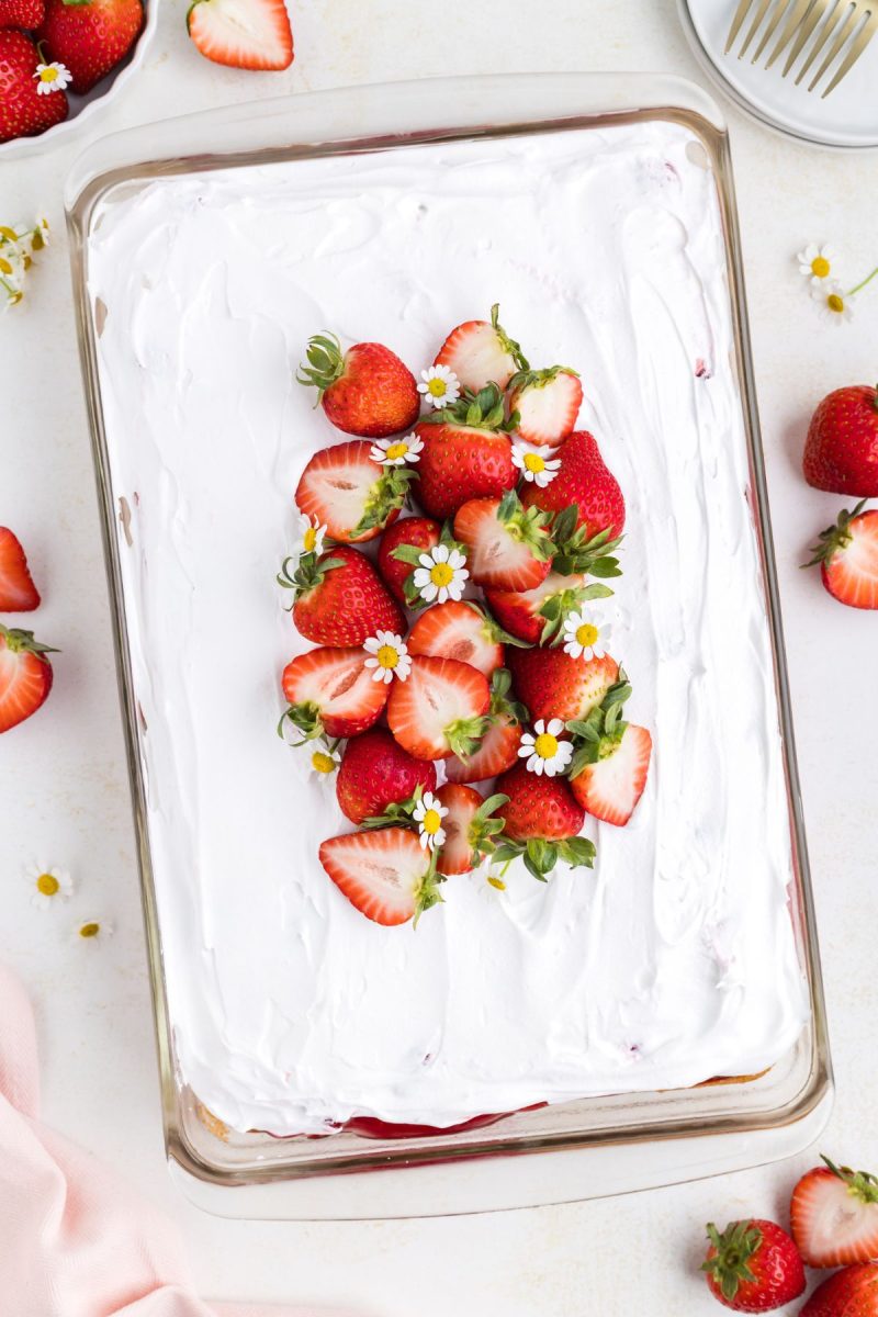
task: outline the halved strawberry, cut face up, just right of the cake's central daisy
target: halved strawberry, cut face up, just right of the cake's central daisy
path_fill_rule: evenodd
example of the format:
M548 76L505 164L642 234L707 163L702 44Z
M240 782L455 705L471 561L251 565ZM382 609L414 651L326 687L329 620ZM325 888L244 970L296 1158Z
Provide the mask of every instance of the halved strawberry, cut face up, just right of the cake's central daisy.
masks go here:
M458 508L454 535L467 548L473 581L496 590L533 590L545 581L554 552L548 520L537 508L525 511L515 490Z

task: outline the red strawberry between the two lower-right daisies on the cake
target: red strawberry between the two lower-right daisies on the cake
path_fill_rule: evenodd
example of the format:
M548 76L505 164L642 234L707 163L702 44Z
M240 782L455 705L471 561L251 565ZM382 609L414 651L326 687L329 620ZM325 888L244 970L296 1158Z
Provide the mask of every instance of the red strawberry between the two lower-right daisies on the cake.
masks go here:
M565 649L509 649L507 662L519 699L530 718L587 718L619 676L619 664L603 658L574 658Z

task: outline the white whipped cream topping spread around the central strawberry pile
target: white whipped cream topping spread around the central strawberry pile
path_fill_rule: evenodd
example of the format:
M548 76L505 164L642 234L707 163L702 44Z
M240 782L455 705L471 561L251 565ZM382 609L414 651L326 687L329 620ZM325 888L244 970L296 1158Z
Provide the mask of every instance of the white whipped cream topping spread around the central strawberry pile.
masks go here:
M407 148L104 207L90 288L170 1010L183 1077L237 1129L448 1126L750 1073L807 1018L720 216L692 141L656 122ZM292 370L333 329L417 374L495 300L533 365L582 373L581 425L623 486L608 614L656 752L629 826L587 824L594 872L453 878L416 931L382 928L317 861L349 830L332 782L274 734L308 648L274 583L292 491L342 437Z

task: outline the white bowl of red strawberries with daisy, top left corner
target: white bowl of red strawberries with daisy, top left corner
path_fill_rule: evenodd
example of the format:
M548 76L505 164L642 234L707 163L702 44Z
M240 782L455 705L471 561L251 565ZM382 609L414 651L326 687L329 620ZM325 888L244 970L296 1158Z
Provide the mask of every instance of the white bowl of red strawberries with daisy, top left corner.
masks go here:
M0 0L0 159L79 128L125 86L154 0Z

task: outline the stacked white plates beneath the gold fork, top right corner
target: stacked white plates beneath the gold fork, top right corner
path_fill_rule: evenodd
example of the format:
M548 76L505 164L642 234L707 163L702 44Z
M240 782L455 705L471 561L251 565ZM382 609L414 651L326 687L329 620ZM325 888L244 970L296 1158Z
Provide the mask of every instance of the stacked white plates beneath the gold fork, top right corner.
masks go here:
M774 13L777 5L786 9L787 0L773 0L769 13ZM792 72L787 78L782 76L786 54L773 68L763 67L777 37L771 38L758 65L752 62L758 37L744 59L738 59L737 50L744 42L744 33L749 30L749 14L733 51L724 54L737 0L678 0L678 7L695 55L741 109L782 133L821 146L841 146L848 150L878 146L878 37L873 38L848 76L821 100L820 91L828 86L828 76L823 78L816 91L810 92L810 79L796 87ZM763 22L760 28L760 37L765 25ZM800 65L802 57L795 68ZM812 71L816 72L817 67L815 65Z

